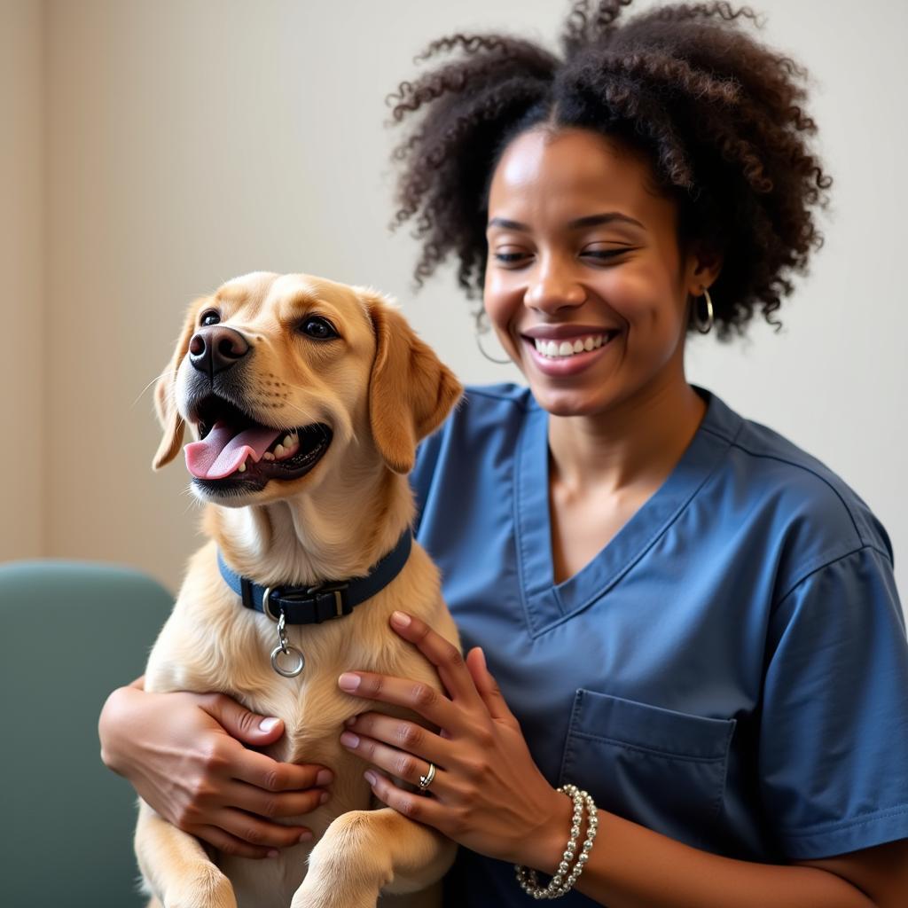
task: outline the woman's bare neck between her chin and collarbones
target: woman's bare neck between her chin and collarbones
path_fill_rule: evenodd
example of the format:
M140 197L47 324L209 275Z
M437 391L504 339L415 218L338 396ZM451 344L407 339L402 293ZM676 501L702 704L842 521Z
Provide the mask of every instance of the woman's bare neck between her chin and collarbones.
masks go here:
M620 492L662 483L685 452L706 403L681 380L656 384L590 416L551 416L552 476L563 487Z

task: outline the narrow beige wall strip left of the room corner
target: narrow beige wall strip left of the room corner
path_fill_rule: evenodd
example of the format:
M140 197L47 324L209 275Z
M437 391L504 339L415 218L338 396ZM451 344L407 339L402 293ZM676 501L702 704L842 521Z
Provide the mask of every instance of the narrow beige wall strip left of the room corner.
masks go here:
M0 560L44 552L44 7L0 0Z

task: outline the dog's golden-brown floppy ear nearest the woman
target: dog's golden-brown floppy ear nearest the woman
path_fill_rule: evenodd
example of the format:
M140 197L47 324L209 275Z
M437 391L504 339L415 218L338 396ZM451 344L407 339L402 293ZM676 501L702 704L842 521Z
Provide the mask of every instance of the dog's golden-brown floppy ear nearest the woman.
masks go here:
M395 473L409 473L419 439L439 428L463 387L379 293L362 291L376 350L369 386L372 438Z

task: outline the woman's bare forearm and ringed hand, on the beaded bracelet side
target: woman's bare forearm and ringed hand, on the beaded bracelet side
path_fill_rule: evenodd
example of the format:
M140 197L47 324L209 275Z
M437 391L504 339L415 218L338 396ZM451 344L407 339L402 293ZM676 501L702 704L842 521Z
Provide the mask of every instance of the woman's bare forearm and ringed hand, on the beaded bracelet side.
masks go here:
M432 797L405 792L369 770L391 807L480 854L554 873L568 841L571 802L533 763L480 650L466 661L416 618L392 627L439 670L449 697L400 678L341 676L348 693L406 706L444 730L366 713L341 742L390 775L418 783L439 768ZM352 734L352 737L350 736ZM367 776L368 777L368 776ZM598 834L577 890L609 908L901 908L908 894L908 840L800 865L737 861L681 844L598 812ZM583 841L581 830L580 841ZM809 864L809 865L808 865ZM515 879L515 886L518 885Z

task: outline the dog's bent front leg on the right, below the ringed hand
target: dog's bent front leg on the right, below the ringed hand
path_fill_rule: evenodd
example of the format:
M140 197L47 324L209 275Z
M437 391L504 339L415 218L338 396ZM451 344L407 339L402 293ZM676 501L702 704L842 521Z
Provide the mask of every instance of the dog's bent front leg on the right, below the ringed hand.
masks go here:
M375 908L381 892L414 893L435 883L456 849L390 807L341 814L312 849L291 908Z

